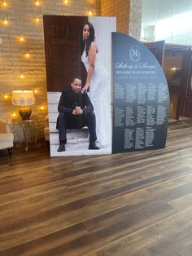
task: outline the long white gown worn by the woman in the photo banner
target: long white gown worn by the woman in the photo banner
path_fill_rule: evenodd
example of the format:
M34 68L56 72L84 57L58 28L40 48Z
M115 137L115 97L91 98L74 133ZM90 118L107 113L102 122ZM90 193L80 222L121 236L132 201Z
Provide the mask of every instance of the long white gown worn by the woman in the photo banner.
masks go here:
M88 56L85 51L81 55L81 60L88 71ZM96 116L97 140L101 146L111 144L111 82L110 76L104 68L99 54L96 54L94 64L94 75L89 85L89 99L94 105Z

